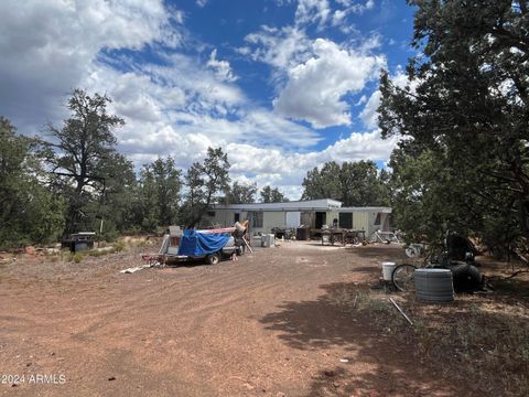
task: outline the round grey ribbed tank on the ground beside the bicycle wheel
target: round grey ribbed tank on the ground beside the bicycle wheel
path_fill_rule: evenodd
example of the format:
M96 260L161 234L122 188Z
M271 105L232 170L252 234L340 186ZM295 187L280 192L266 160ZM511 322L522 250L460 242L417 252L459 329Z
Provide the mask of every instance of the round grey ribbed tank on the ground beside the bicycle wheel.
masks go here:
M417 269L415 297L421 302L442 303L454 300L452 271L449 269Z

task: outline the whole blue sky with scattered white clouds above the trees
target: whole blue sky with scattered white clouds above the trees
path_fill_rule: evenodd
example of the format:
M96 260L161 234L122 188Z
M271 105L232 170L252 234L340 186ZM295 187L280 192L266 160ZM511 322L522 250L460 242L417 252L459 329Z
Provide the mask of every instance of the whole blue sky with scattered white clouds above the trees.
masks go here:
M327 161L385 167L378 78L406 81L412 26L404 0L2 0L0 116L45 135L74 88L106 94L137 170L222 147L233 180L298 200Z

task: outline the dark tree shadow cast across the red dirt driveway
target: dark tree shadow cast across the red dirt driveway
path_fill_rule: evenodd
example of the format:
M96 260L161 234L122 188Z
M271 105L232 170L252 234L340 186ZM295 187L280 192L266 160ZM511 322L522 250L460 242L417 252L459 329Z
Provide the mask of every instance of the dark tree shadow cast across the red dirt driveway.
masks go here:
M339 365L320 363L309 396L484 395L466 384L456 368L440 368L439 363L423 362L414 354L412 331L399 314L396 314L400 321L397 325L393 316L393 331L386 331L384 324L371 326L374 318L369 312L355 309L356 299L352 294L361 293L356 283L321 288L325 293L316 300L285 302L279 311L260 320L292 348L339 350L350 357ZM384 309L395 314L389 304ZM395 330L410 332L409 340L395 337Z

